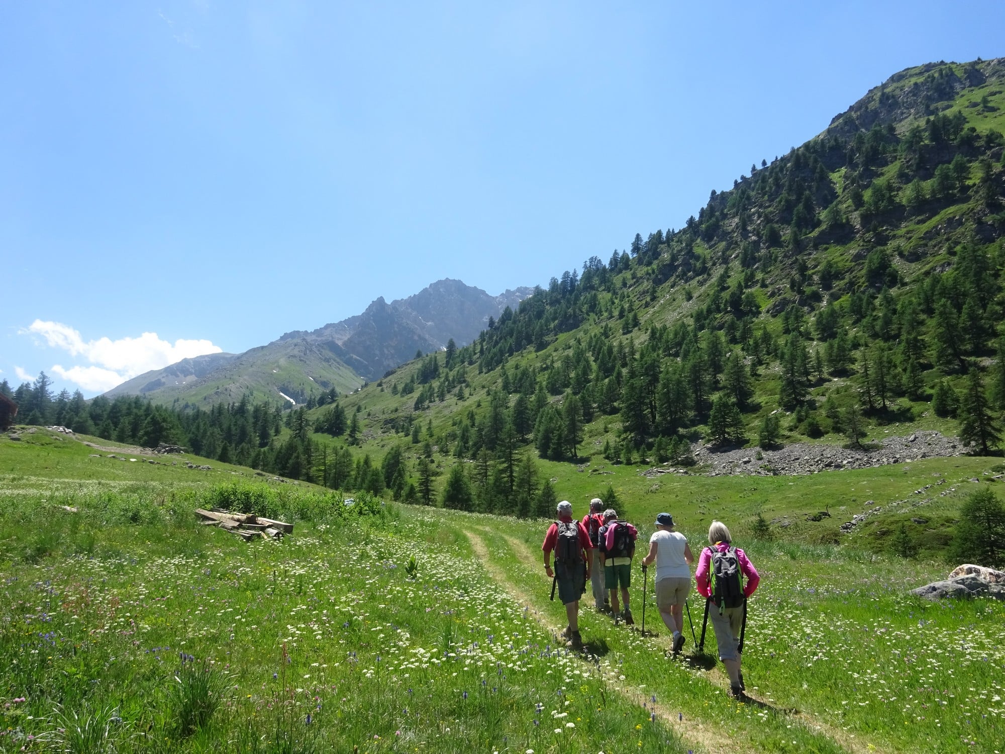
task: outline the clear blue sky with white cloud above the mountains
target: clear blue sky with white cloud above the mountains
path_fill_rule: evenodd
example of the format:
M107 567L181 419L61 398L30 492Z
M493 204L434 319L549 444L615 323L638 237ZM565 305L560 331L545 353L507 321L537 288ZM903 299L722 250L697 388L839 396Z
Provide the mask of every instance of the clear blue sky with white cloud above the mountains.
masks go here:
M441 277L547 284L904 67L1005 55L998 0L40 0L0 24L0 379L88 396Z

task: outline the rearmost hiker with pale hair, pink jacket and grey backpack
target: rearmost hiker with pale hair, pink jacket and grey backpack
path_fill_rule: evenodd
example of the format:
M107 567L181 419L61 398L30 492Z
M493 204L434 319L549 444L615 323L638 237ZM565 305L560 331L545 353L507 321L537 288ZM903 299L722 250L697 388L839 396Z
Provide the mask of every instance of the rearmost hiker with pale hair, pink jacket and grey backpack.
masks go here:
M747 598L757 589L761 577L746 553L733 547L730 530L723 522L712 522L709 544L711 547L701 550L701 557L698 558L694 586L698 594L715 604L709 614L712 615L712 627L719 644L719 658L730 676L730 695L743 699L744 675L740 672L738 650L740 631ZM746 585L741 583L741 574L747 576Z

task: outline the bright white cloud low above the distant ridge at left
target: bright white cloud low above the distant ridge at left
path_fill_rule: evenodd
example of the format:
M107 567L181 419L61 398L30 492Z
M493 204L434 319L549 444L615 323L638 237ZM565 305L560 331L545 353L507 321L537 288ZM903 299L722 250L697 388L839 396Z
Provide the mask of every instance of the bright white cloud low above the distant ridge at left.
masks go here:
M70 356L82 356L94 366L56 364L52 371L63 379L75 382L85 390L110 390L138 374L162 369L182 359L203 354L218 354L223 349L207 340L179 339L174 343L161 340L157 333L144 333L138 338L99 338L84 341L80 333L61 322L35 320L20 331L45 339L48 346L65 351ZM21 379L29 379L18 373Z

